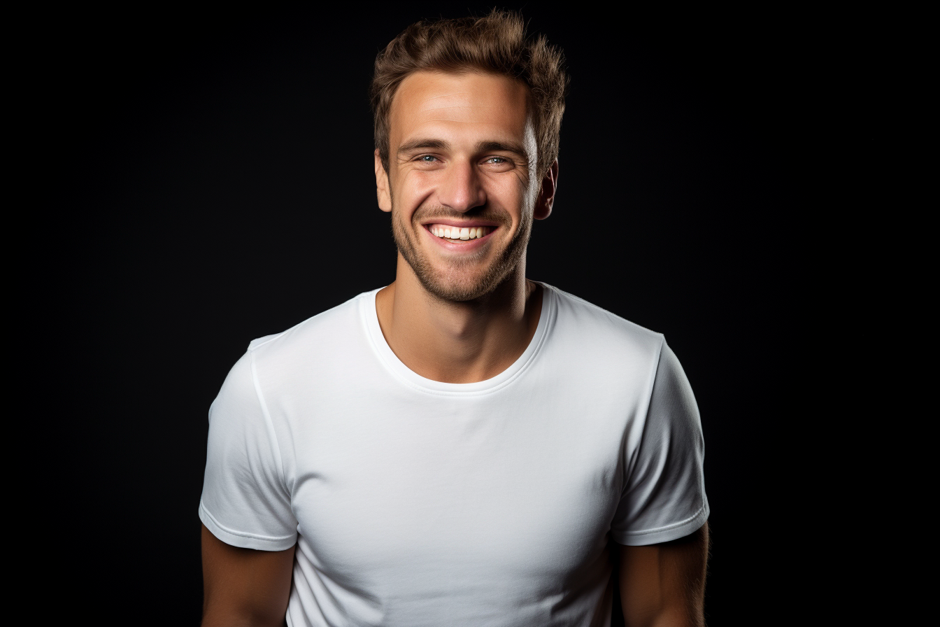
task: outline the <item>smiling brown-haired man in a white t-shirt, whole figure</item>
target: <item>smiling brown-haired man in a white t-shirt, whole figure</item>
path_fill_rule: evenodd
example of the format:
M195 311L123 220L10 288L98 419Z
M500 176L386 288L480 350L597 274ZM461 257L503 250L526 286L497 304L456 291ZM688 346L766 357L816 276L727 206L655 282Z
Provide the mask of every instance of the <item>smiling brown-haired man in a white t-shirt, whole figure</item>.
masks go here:
M525 278L566 82L505 13L413 24L379 55L396 280L253 341L212 403L204 625L607 625L615 568L627 624L703 623L679 362Z

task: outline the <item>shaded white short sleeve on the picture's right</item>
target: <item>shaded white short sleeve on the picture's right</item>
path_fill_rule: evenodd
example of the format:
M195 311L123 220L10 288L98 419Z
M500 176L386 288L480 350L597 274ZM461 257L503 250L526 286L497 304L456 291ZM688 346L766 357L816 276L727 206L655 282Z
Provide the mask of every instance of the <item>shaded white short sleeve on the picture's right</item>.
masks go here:
M663 342L642 439L626 451L627 476L611 537L640 546L687 536L708 520L705 442L692 387Z

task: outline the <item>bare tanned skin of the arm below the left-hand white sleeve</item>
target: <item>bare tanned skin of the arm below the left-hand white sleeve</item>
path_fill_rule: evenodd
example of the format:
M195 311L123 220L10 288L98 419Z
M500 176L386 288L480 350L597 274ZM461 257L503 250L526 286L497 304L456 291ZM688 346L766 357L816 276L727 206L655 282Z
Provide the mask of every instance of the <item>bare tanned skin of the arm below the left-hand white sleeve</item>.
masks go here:
M281 627L293 553L231 546L202 525L202 627Z

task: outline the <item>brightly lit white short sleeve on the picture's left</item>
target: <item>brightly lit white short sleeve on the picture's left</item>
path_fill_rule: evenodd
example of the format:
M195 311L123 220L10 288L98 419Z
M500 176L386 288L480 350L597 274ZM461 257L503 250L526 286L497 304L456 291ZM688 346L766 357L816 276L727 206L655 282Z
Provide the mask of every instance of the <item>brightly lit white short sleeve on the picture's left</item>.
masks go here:
M234 546L282 551L297 540L274 426L258 394L250 351L228 373L209 410L199 518Z

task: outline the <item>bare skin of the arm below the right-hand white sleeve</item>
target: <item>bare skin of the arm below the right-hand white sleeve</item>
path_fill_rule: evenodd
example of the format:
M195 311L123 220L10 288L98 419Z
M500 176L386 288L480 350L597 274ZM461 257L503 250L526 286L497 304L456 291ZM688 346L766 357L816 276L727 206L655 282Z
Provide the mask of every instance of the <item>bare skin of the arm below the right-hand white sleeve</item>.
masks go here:
M627 627L704 627L707 523L685 538L620 546L619 553Z

